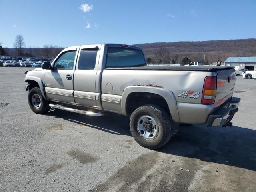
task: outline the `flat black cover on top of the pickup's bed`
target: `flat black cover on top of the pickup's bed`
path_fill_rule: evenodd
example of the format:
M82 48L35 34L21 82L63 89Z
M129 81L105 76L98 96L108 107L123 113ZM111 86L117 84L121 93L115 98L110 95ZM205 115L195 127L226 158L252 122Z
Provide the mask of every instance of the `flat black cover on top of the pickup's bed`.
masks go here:
M108 70L157 70L157 71L218 71L232 69L229 66L142 66L142 67L115 67Z

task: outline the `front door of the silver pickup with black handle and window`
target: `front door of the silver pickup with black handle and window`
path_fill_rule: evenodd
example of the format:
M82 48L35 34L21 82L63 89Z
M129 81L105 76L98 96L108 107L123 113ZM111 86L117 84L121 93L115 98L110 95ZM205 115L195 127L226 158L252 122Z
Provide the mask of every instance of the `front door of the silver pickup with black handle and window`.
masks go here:
M79 46L70 47L54 60L52 69L44 75L46 96L49 100L75 104L73 77Z

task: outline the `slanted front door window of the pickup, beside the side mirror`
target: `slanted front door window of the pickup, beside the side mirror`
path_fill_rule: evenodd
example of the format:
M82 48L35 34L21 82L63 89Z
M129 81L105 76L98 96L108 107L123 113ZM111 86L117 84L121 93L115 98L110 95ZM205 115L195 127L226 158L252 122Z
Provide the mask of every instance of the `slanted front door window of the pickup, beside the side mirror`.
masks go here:
M64 54L54 62L54 69L73 69L75 56L76 50L64 52Z

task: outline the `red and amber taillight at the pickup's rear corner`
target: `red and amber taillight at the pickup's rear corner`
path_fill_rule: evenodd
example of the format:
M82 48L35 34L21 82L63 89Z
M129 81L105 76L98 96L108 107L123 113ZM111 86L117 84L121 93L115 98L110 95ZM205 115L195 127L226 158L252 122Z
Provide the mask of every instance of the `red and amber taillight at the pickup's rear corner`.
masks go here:
M207 76L204 79L204 88L202 93L202 104L213 104L216 95L217 79L216 76Z

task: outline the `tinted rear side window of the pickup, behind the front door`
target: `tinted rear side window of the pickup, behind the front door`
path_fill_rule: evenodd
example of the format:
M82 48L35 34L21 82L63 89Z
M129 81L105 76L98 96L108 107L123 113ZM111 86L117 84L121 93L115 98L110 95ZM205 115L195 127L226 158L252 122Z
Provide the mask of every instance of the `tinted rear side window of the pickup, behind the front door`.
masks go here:
M78 60L78 69L92 70L95 68L98 49L82 49Z

